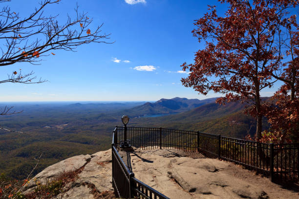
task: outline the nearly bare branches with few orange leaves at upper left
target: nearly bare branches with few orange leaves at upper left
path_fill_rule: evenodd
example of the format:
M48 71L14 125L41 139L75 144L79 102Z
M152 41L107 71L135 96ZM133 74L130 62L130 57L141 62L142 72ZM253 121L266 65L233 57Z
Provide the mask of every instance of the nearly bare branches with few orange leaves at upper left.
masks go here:
M10 0L0 0L7 2ZM61 0L42 0L40 7L36 8L28 17L21 18L17 11L8 6L0 11L0 40L1 52L0 66L8 66L17 62L29 62L38 64L43 56L54 56L56 50L73 51L77 46L97 42L106 43L108 35L101 33L99 25L94 30L88 28L92 19L86 13L79 13L78 5L75 8L75 18L67 17L66 23L61 24L57 16L44 16L45 7ZM22 74L20 71L12 71L6 80L0 83L42 83L37 80L34 73ZM10 108L5 107L0 115L9 113Z

